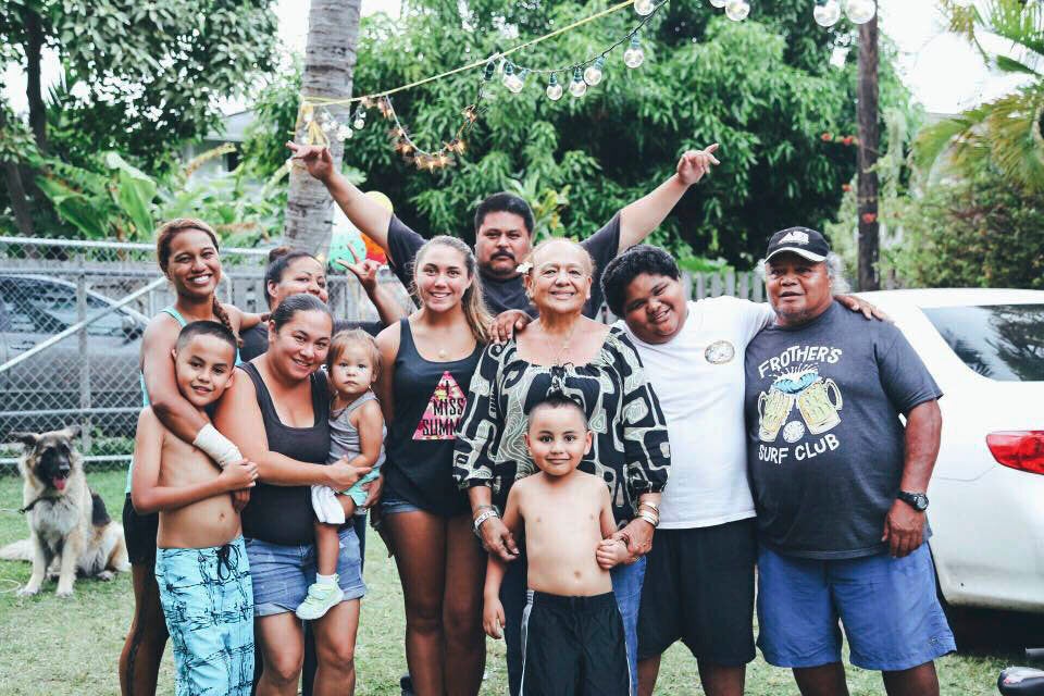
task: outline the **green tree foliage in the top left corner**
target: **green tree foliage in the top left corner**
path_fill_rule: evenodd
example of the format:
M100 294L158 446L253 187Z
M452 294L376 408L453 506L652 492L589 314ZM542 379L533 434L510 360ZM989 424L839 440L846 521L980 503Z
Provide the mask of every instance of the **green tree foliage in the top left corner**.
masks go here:
M271 5L7 0L0 3L0 58L22 64L30 92L40 47L61 59L62 84L49 96L27 95L34 130L46 121L46 134L35 133L41 149L66 161L119 149L152 165L173 146L217 126L217 100L246 94L253 76L273 67Z

